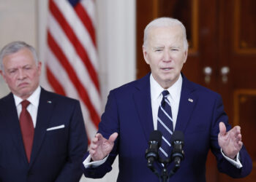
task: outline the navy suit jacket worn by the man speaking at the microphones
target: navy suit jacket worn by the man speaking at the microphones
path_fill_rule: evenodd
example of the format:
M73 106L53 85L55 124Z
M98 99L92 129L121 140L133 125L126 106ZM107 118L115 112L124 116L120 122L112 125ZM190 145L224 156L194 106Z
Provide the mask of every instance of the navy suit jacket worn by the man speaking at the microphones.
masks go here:
M113 132L118 132L118 138L104 164L96 168L83 167L86 177L102 178L112 169L111 165L118 155L117 181L158 181L157 176L148 169L145 158L149 135L154 130L149 75L110 91L105 113L99 123L99 132L105 138ZM222 156L217 139L219 122L225 122L227 130L230 130L220 95L189 82L183 76L175 130L184 132L185 158L181 162L181 168L170 178L170 181L206 181L206 158L209 149L217 159L220 172L227 173L233 178L240 178L250 173L252 160L244 146L240 151L243 165L241 169L227 162ZM84 159L88 155L89 153ZM161 170L161 166L156 167ZM169 168L171 167L170 165Z

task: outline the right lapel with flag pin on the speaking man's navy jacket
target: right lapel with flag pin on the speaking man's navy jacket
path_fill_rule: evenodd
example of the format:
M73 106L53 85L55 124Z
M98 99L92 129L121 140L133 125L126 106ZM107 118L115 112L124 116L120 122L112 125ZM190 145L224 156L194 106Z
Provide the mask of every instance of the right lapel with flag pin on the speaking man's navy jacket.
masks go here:
M192 94L194 90L195 87L193 87L191 82L189 82L189 80L183 76L181 100L178 108L175 130L181 130L185 132L187 128L187 124L197 103L196 96Z

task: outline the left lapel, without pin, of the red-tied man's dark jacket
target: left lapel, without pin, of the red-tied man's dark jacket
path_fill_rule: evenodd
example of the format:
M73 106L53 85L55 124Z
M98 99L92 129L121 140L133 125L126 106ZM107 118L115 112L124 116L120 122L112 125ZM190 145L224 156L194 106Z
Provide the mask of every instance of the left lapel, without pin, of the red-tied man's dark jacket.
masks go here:
M10 136L12 138L12 141L14 146L18 150L18 155L21 155L24 159L24 162L28 162L26 159L26 152L23 145L23 139L20 131L20 122L18 119L17 109L15 106L15 100L13 98L12 93L7 95L6 98L4 98L4 105L5 107L1 108L2 113L5 115L4 122L7 123L8 129L10 130Z

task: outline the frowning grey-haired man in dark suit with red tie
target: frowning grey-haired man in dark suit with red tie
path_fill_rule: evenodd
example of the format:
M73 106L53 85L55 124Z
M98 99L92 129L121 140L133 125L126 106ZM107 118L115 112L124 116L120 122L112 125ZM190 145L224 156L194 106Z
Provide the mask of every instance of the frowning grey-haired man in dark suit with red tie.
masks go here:
M78 100L39 87L41 63L22 41L0 52L11 93L0 99L0 181L75 182L87 149Z

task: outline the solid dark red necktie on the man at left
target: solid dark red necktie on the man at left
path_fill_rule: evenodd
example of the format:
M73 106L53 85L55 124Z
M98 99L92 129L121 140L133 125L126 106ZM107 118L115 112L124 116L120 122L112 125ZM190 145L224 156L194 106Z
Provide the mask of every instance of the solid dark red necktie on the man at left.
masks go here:
M29 106L28 100L23 100L21 102L22 110L20 113L20 130L23 138L23 144L26 150L26 157L30 162L31 150L34 139L34 125L29 111L26 108Z

